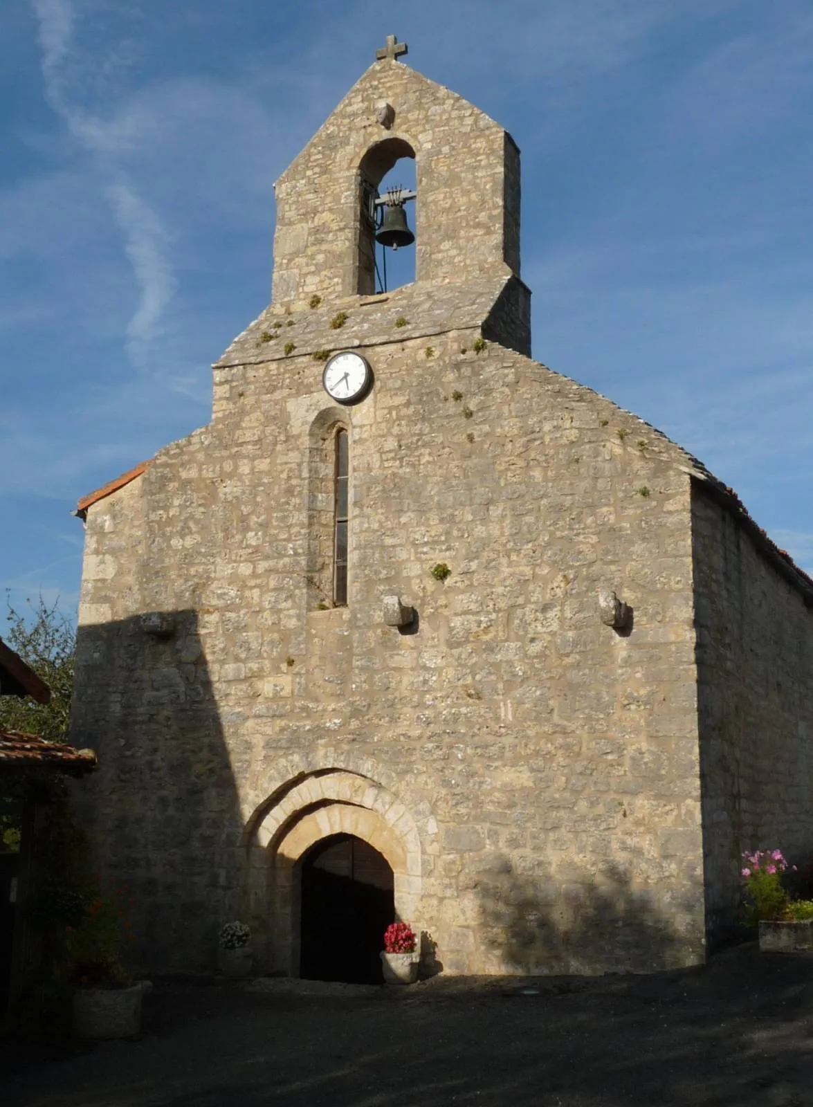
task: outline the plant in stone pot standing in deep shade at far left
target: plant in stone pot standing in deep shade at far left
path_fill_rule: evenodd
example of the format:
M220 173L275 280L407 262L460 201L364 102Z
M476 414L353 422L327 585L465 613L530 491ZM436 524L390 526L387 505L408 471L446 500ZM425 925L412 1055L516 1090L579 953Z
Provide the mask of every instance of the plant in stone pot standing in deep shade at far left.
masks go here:
M82 1038L135 1037L143 989L122 963L127 923L113 900L92 900L75 927L65 927L64 976L74 987L71 1030Z

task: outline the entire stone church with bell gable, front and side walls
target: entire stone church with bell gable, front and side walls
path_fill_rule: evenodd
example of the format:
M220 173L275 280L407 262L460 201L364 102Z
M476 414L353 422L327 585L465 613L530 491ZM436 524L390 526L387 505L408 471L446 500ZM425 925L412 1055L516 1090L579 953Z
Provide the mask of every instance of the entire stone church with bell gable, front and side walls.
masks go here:
M277 183L212 422L80 501L84 818L154 971L240 918L297 975L332 841L384 859L425 972L701 962L742 849L813 852L813 581L531 359L517 147L392 46ZM403 156L416 276L377 294L364 197Z

